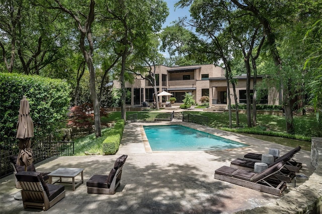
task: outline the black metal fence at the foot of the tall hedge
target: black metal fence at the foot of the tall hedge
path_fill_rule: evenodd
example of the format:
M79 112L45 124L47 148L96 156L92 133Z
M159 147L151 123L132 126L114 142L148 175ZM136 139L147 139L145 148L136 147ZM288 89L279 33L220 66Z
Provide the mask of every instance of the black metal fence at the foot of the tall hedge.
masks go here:
M74 142L73 141L46 141L32 142L31 145L34 154L34 163L38 163L53 156L73 156ZM8 176L14 169L10 163L10 156L18 155L19 148L12 150L0 151L0 178Z

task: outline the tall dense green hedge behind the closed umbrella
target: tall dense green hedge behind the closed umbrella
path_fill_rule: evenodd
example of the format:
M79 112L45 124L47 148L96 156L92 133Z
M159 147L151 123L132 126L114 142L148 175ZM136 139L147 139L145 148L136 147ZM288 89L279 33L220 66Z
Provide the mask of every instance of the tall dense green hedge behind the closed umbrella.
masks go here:
M17 73L0 73L0 149L18 144L16 139L20 100L29 100L30 115L34 122L35 137L58 134L66 123L69 107L69 85L59 79Z

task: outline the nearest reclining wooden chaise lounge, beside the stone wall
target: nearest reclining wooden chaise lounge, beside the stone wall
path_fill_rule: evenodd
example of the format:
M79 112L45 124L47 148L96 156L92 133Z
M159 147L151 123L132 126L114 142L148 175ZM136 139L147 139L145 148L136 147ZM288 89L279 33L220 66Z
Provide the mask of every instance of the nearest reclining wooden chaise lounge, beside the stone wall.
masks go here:
M221 166L215 170L214 177L215 179L236 185L281 196L284 189L287 188L286 182L279 180L278 177L274 175L279 172L284 165L284 161L280 161L260 173L229 166Z

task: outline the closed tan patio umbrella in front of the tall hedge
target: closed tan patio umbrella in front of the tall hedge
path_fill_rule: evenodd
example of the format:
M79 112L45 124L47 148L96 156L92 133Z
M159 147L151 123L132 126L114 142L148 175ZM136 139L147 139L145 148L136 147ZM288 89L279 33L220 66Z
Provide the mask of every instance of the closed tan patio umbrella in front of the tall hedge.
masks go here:
M31 147L31 137L34 136L34 123L30 117L29 101L26 96L20 100L19 117L17 123L17 136L19 139L19 154L17 164L27 167L33 162L33 152Z

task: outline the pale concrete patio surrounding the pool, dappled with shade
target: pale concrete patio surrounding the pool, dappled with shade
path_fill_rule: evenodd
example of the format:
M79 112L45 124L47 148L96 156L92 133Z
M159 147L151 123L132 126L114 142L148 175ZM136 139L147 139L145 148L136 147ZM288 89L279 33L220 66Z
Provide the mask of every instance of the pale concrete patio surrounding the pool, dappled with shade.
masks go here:
M66 185L66 196L48 213L232 213L275 201L278 196L214 179L214 170L247 152L267 153L278 148L281 155L290 147L255 138L180 121L148 124L184 124L202 131L248 144L248 147L207 152L151 152L141 135L140 123L125 126L116 155L56 157L36 164L37 171L53 171L59 167L85 168L85 183L75 191ZM144 124L146 125L146 123ZM114 195L88 194L86 181L93 174L107 174L115 159L128 154L123 167L121 186ZM299 151L295 160L303 163L300 174L309 176L313 169L310 152ZM77 180L77 177L76 177ZM296 186L304 179L297 179ZM294 188L293 183L283 196ZM0 180L0 213L36 213L24 209L14 199L19 191L13 175ZM282 197L283 197L282 196Z

